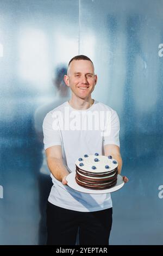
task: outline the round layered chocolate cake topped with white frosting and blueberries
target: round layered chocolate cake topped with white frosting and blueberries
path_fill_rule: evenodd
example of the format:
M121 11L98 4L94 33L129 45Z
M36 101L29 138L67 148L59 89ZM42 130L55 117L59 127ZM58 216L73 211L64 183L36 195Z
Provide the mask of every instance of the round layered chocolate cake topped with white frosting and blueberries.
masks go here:
M118 163L112 156L84 155L76 161L76 182L91 190L105 190L116 185Z

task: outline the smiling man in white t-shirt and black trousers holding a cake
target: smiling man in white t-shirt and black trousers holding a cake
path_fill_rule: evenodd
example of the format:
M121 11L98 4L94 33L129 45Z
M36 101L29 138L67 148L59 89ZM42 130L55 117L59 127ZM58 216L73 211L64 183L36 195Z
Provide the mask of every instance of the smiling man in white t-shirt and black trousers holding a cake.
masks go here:
M110 193L78 192L67 186L66 176L75 170L75 161L79 157L95 153L112 155L118 162L120 174L120 122L111 107L91 99L97 75L88 57L72 58L64 80L71 89L71 100L50 111L43 121L47 163L54 184L47 204L47 244L75 245L79 228L80 245L108 245L112 225ZM102 133L100 129L83 129L90 113L101 112L110 114L109 133ZM84 118L82 121L80 118L71 120L74 116ZM67 118L68 129L65 126ZM97 123L99 119L95 118ZM104 124L108 124L105 119ZM128 181L126 176L123 180Z

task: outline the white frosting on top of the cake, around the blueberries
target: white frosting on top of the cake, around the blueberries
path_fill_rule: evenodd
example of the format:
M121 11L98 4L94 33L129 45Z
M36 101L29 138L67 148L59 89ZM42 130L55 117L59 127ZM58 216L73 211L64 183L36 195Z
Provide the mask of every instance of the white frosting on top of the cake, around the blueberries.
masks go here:
M76 165L79 169L85 170L87 172L92 172L92 173L108 172L109 173L118 166L117 161L115 159L109 159L108 156L90 155L87 157L81 156L80 158L82 158L83 160L82 161L77 160ZM95 159L98 159L99 161L96 162ZM113 161L116 161L116 163L113 163ZM83 163L84 166L80 166L79 165L80 163ZM106 165L109 166L108 169L105 168ZM96 166L96 169L92 169L92 166Z

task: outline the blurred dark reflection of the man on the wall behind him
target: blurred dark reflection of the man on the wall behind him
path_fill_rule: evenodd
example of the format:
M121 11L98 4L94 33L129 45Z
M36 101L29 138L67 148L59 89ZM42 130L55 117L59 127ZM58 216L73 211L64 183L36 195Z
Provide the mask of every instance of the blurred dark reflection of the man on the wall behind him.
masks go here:
M42 132L42 123L46 114L58 107L65 101L70 99L69 96L69 88L66 86L64 82L64 75L67 73L67 69L65 65L59 65L55 69L55 78L53 80L53 84L55 89L57 90L57 94L54 96L54 100L52 102L46 103L38 107L34 114L34 123L35 123L35 131L37 142L42 144L42 151L40 152L41 157L43 158L42 166L40 167L39 172L39 209L40 209L40 223L39 223L39 245L46 244L47 230L46 230L46 204L48 200L49 193L51 191L51 187L53 185L52 179L50 176L49 169L47 167L46 154L43 149L43 132Z

